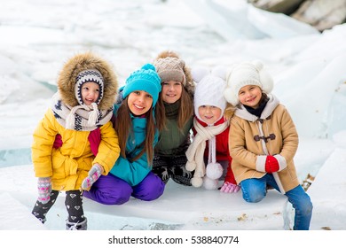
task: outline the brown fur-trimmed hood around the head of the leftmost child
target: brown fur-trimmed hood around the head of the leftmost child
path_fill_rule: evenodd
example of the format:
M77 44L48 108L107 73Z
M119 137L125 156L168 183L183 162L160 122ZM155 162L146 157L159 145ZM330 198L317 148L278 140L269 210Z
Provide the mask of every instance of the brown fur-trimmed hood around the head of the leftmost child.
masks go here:
M80 72L90 69L97 69L103 76L104 93L98 104L98 110L107 110L114 105L118 93L118 79L112 66L92 52L77 54L68 59L63 66L57 82L61 100L71 107L79 105L75 97L76 77Z

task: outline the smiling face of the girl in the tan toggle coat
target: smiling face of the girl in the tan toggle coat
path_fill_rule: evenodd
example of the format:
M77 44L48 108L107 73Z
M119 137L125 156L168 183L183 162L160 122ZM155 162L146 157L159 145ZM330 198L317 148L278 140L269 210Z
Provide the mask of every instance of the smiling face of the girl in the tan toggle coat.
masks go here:
M238 97L242 105L256 109L262 97L262 89L256 85L246 85L240 88Z

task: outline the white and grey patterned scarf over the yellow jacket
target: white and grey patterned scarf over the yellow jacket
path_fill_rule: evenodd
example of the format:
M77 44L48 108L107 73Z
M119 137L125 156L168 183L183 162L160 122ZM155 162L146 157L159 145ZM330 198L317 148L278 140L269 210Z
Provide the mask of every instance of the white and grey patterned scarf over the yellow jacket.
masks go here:
M92 131L111 120L113 106L106 111L98 111L98 105L77 105L71 107L61 101L59 92L52 97L52 111L59 124L67 129Z

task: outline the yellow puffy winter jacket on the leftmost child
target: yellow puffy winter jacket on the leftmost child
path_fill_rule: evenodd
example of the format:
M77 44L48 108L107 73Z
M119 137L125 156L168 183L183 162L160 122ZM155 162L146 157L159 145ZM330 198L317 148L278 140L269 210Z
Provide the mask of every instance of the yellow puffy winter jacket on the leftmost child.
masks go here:
M75 131L62 127L49 109L35 129L32 160L36 177L51 177L53 190L80 190L83 179L95 163L108 174L120 154L118 136L109 121L100 127L101 142L95 157L90 150L90 131ZM62 146L53 148L60 134Z

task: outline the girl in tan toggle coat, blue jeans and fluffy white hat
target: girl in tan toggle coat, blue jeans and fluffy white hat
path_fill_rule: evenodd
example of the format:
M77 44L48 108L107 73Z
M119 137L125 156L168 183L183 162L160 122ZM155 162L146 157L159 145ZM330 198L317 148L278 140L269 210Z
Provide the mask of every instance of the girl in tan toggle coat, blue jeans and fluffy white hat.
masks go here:
M297 179L295 124L279 99L270 95L271 76L260 61L243 62L227 75L224 97L232 105L229 147L232 170L247 202L261 201L272 187L295 208L294 229L309 229L312 204ZM234 106L234 107L233 107Z

